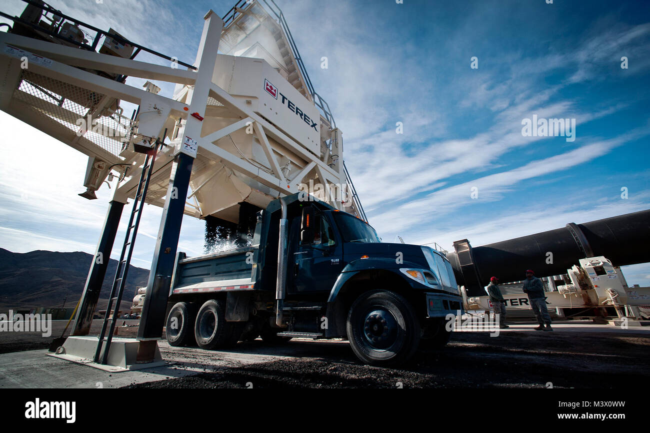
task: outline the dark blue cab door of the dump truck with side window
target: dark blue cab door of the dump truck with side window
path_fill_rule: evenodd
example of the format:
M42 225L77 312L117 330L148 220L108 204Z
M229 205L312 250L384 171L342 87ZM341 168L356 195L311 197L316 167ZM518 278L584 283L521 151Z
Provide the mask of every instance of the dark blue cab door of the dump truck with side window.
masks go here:
M291 227L289 291L329 292L343 270L343 247L328 214L315 217L314 240L300 244L300 219Z

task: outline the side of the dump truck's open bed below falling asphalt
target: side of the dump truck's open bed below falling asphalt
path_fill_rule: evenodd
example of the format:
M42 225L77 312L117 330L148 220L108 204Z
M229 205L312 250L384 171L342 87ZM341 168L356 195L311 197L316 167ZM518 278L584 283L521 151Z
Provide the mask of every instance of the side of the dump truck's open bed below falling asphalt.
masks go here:
M185 257L179 253L170 295L220 290L252 290L255 247Z

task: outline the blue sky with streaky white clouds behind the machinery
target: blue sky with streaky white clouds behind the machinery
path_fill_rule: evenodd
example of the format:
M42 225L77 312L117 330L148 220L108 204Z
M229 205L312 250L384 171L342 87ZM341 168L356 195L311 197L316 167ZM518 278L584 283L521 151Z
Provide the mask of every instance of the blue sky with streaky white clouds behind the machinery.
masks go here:
M50 3L191 63L205 12L223 15L235 2ZM650 207L650 2L276 3L343 131L344 160L383 240L477 246ZM171 95L172 85L158 84ZM524 137L532 115L575 119L575 141ZM0 247L92 252L112 191L77 197L86 158L0 119ZM151 260L160 214L146 208L136 266ZM200 254L202 241L203 223L186 217L181 250ZM650 265L624 271L628 283L650 285Z

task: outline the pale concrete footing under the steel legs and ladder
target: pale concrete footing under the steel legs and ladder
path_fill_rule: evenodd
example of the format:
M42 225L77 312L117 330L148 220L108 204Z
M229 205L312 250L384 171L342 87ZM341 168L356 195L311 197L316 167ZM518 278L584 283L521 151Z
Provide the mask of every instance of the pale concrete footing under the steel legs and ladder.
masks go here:
M103 365L95 363L93 362L93 359L95 351L97 350L98 340L98 337L68 337L63 346L57 350L57 353L47 355L110 372L149 369L151 367L166 365L166 363L162 361L157 345L155 347L155 356L153 357L153 361L149 363L136 363L136 356L140 342L136 339L116 337L114 337L110 343L108 364ZM103 356L105 348L106 344L103 344L100 357Z

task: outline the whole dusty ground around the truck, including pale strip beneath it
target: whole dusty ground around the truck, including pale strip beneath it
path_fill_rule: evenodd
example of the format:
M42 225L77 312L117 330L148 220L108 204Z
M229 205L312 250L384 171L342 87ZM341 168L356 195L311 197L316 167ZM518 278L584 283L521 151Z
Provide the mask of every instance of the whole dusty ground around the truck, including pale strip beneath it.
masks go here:
M127 324L136 322L127 321ZM65 322L60 324L58 335ZM101 322L94 324L98 331ZM57 322L55 322L55 328ZM161 341L168 374L154 382L122 382L147 388L368 388L368 387L576 387L629 388L650 385L650 332L590 324L558 324L552 333L515 325L499 337L454 333L443 349L419 356L404 368L357 361L347 342L293 340L270 345L240 342L227 351L174 348ZM136 327L119 335L135 336ZM53 331L52 337L58 336ZM3 333L0 350L47 348L51 338ZM61 361L57 361L61 362ZM88 369L88 367L80 367ZM177 372L178 374L176 374ZM182 372L182 374L181 374ZM123 374L123 373L120 373ZM160 377L160 376L159 376ZM550 382L550 384L549 384ZM129 385L129 383L131 383ZM121 386L119 384L116 384Z

